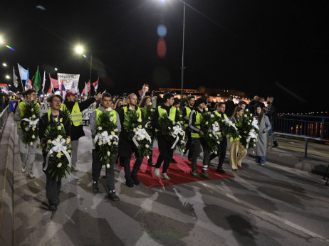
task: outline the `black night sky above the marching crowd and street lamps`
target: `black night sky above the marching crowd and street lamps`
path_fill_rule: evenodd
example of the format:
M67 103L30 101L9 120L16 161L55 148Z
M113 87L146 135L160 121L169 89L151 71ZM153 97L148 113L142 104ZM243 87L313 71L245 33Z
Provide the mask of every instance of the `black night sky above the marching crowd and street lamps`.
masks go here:
M186 3L204 16L187 6L184 87L274 95L281 112L328 108L328 1ZM30 78L37 65L53 77L55 67L79 73L82 90L90 63L74 53L80 43L93 53L100 90L180 87L182 21L179 0L0 1L0 34L16 49L2 46L0 61L29 68ZM167 27L164 58L157 55L159 24Z

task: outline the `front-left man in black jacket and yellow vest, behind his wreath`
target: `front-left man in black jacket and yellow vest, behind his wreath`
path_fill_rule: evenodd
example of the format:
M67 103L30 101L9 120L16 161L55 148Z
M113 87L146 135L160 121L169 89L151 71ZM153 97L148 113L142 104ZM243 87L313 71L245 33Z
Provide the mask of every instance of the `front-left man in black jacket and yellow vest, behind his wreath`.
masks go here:
M50 124L55 123L61 129L65 130L66 136L62 136L63 139L71 139L71 122L70 118L61 112L61 103L63 98L60 95L52 95L48 98L48 103L51 109L48 110L39 121L38 134L40 143L43 149L45 148L46 142L46 129ZM61 189L61 178L53 176L51 173L51 166L46 163L48 153L43 151L43 171L46 173L46 196L48 198L49 210L56 211L59 203L58 195ZM46 167L47 165L47 167ZM46 168L46 170L44 170Z

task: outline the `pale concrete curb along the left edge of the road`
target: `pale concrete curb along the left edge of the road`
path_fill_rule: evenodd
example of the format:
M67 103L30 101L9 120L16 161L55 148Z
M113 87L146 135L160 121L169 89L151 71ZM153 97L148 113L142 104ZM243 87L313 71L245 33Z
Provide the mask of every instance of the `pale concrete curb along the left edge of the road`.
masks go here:
M0 245L14 244L14 118L9 115L0 143Z

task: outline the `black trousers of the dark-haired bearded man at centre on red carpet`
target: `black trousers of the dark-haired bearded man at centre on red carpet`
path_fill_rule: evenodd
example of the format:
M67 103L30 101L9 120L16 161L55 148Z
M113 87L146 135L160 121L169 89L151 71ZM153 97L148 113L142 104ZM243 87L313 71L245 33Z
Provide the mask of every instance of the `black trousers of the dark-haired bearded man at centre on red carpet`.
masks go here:
M170 161L174 155L174 149L172 148L172 143L164 139L162 134L157 135L157 146L159 147L159 156L157 157L157 163L155 167L160 169L163 161L162 173L167 173Z

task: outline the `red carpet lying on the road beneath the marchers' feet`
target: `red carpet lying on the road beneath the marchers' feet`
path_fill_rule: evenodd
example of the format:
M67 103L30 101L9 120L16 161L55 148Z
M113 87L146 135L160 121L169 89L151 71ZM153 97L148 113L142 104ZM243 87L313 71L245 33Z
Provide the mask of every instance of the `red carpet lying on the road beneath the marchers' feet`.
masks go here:
M157 156L159 155L159 151L157 148L153 148L153 162L157 161ZM178 183L189 183L194 181L204 181L207 178L204 178L200 175L199 178L194 177L190 174L191 172L191 163L187 159L182 160L181 156L174 155L174 159L177 161L177 164L170 163L169 169L167 171L167 175L171 178L170 181L165 181L161 178L156 178L154 171L155 168L152 166L147 166L147 159L144 158L142 165L140 166L140 171L138 172L138 179L140 182L144 183L145 186L154 187L154 186L172 186ZM133 159L130 161L130 167L132 169L133 164L135 161ZM123 169L122 166L116 164L120 169ZM197 163L197 171L201 173L202 171L202 164ZM160 176L162 173L162 166L160 167ZM219 178L230 178L233 177L232 175L225 173L220 174L216 173L216 169L209 168L208 169L209 176L211 179L219 179Z

